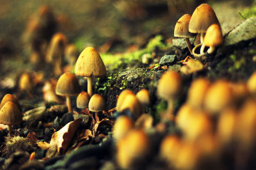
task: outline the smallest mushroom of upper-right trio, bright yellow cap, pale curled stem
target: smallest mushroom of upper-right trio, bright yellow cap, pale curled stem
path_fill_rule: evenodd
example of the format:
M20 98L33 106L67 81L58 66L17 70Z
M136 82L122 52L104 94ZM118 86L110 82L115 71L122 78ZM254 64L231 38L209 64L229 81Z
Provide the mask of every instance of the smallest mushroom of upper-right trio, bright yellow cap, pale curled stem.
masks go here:
M220 25L218 24L212 24L206 31L204 42L202 43L200 55L195 53L195 50L198 46L196 45L195 48L193 48L192 53L195 57L202 57L205 55L204 48L205 46L209 46L210 48L207 50L207 53L212 53L215 50L216 46L219 46L223 43L223 36L221 32Z

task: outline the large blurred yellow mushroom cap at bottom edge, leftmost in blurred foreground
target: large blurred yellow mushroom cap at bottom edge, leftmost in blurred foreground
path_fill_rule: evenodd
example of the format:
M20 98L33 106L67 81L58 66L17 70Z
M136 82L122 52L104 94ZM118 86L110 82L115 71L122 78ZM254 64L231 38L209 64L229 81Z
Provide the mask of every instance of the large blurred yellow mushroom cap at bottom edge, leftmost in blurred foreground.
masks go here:
M148 151L149 142L145 132L132 129L117 142L116 162L121 168L127 169L134 160L145 157Z

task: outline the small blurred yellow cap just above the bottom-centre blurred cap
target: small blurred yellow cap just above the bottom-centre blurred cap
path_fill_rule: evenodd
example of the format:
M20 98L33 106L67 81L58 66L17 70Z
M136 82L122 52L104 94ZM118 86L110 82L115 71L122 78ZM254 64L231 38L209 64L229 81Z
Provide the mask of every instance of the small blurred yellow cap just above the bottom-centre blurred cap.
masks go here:
M118 117L113 126L113 138L116 140L121 139L132 129L132 127L134 127L134 123L131 118L127 116Z

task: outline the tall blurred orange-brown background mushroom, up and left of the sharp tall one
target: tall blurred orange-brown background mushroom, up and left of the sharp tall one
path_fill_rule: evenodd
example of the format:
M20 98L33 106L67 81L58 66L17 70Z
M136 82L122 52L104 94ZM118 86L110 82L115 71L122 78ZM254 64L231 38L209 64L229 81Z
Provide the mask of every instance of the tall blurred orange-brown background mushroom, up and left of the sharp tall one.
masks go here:
M47 52L47 60L54 65L54 74L60 75L62 73L63 57L67 38L62 33L56 33L51 39L51 45Z

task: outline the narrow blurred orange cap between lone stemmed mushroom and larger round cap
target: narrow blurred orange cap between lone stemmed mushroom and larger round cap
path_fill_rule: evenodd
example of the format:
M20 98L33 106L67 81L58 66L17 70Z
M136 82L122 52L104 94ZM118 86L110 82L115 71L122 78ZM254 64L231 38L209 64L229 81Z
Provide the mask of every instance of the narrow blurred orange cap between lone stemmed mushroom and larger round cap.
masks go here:
M210 81L206 78L198 78L191 83L188 90L188 104L195 108L204 106L205 94L210 86Z

